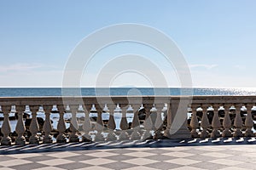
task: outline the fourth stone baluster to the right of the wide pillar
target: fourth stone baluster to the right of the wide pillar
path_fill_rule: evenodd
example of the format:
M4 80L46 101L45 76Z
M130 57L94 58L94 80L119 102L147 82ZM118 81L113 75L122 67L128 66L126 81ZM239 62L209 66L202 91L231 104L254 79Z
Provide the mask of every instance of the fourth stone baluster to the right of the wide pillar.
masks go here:
M228 105L224 105L224 111L225 111L225 116L223 121L224 131L222 133L222 136L224 138L230 138L232 137L232 133L230 131L230 127L232 125L231 119L230 119L230 107Z

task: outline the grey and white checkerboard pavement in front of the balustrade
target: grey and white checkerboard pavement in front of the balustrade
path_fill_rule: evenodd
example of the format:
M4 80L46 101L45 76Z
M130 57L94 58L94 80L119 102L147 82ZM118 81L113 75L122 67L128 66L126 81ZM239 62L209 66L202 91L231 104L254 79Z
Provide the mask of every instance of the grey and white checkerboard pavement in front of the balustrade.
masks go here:
M0 170L256 169L256 145L164 142L0 146ZM179 143L180 144L180 143ZM112 145L112 147L110 147Z

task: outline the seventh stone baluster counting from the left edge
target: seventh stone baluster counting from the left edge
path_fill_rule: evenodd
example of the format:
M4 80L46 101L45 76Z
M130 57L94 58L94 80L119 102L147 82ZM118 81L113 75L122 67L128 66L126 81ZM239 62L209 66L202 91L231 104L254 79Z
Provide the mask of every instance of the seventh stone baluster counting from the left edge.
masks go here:
M84 123L83 123L84 134L82 136L83 142L91 142L92 141L92 139L90 137L91 123L90 123L89 111L90 111L89 108L85 108L85 110L84 110Z

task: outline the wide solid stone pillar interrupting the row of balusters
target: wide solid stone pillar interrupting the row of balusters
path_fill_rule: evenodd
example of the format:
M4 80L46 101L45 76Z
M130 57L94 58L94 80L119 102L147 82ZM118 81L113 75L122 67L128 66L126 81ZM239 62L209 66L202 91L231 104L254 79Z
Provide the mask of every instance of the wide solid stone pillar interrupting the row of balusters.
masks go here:
M169 139L191 139L187 123L188 105L179 105L179 100L171 102L165 136Z

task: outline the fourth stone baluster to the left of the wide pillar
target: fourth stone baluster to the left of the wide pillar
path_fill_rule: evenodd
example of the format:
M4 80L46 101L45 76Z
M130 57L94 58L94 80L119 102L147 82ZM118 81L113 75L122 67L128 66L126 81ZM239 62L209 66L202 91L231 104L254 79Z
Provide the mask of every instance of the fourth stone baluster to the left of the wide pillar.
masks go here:
M127 129L129 127L127 118L126 118L126 113L133 113L133 109L131 105L127 108L126 112L122 112L122 119L120 122L120 128L122 129L122 132L119 135L119 140L127 140L129 139L129 135L127 133Z

